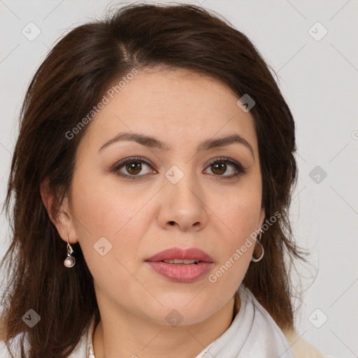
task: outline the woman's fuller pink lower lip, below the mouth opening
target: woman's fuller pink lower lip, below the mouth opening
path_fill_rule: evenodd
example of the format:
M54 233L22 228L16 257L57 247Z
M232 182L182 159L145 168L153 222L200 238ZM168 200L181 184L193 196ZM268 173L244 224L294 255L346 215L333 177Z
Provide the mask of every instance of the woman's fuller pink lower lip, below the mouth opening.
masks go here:
M176 282L194 282L210 271L213 262L199 264L166 264L166 262L146 262L155 272Z

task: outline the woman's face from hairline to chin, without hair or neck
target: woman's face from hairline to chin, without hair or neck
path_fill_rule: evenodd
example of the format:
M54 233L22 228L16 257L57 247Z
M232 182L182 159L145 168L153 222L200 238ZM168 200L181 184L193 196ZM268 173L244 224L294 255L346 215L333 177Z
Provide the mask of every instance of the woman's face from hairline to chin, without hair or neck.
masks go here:
M78 147L70 243L79 241L103 309L202 322L234 296L254 245L234 254L264 220L253 117L225 85L182 69L139 71L117 92ZM243 140L217 141L233 135ZM146 261L170 248L211 260Z

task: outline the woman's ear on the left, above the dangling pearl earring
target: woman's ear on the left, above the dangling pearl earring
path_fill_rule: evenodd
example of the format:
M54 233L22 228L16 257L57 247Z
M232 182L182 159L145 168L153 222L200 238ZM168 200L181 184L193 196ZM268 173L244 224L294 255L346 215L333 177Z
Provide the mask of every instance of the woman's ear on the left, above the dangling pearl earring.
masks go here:
M67 237L69 238L69 243L77 243L78 238L76 235L76 230L74 227L73 219L71 218L71 213L69 210L69 200L67 196L64 198L62 206L59 208L58 213L53 216L54 204L56 202L55 194L50 190L49 185L50 180L45 178L40 185L40 194L45 206L50 220L55 225L59 236L62 240L67 242Z

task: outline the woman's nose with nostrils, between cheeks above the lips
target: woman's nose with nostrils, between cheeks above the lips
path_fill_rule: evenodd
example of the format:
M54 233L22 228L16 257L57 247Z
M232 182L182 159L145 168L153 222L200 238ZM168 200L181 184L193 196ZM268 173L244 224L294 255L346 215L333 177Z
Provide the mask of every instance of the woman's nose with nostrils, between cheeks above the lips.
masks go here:
M199 231L206 227L208 206L194 175L185 174L176 184L165 178L160 193L158 220L162 228Z

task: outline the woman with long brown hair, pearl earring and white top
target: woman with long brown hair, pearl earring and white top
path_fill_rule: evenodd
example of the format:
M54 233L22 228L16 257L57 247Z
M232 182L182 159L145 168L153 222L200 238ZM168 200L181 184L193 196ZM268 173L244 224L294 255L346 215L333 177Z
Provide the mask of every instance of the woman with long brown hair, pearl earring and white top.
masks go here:
M1 357L323 357L285 264L294 120L245 35L126 6L55 45L21 115Z

